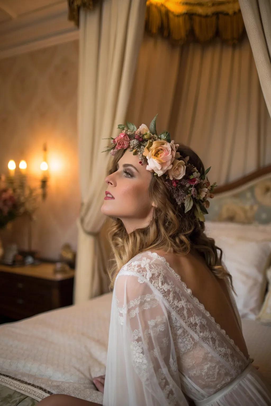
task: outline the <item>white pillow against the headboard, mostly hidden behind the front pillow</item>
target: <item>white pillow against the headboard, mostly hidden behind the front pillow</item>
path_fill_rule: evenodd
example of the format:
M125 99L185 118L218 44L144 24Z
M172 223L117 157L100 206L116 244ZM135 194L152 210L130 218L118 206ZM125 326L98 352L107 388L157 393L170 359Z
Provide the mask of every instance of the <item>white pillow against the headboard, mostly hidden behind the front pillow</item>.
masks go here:
M208 237L231 237L245 241L271 241L271 223L240 224L226 221L205 221Z

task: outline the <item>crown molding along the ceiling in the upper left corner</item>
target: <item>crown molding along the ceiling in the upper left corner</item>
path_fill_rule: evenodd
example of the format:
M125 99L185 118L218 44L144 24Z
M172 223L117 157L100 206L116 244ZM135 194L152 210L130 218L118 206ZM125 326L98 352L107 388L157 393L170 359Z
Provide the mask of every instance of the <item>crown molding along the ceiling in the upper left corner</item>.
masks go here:
M79 30L67 13L65 1L2 22L0 59L78 39Z

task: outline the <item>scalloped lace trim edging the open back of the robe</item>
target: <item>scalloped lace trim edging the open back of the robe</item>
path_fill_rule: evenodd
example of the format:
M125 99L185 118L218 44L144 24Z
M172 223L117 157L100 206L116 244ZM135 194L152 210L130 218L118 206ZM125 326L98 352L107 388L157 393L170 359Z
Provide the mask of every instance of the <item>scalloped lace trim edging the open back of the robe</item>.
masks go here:
M189 289L186 284L182 281L181 277L179 274L177 274L177 272L175 272L173 270L173 268L171 268L171 266L169 265L169 263L167 262L167 260L162 257L161 255L157 254L157 253L153 253L152 251L144 251L147 253L150 253L151 257L153 258L160 258L163 263L165 263L165 266L168 268L168 270L178 279L178 281L181 283L181 285L184 287L184 290L187 294L189 294L189 296L195 301L195 303L197 304L197 306L202 310L202 312L215 324L215 326L217 327L217 329L223 334L223 336L232 344L232 346L235 348L235 350L241 355L243 356L243 358L246 361L252 362L251 358L246 358L245 355L243 354L243 352L240 350L240 348L234 343L233 339L231 339L228 334L225 332L225 330L223 328L221 328L220 324L217 323L214 319L214 317L212 317L212 315L210 315L210 313L208 312L208 310L205 309L204 304L199 302L199 300L192 294L191 289Z

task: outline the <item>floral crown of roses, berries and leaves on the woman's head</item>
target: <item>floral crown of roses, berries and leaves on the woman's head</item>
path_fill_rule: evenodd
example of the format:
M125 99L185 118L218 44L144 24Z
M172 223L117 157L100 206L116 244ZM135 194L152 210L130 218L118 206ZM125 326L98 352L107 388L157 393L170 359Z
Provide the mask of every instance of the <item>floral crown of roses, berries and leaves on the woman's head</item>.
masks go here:
M130 147L133 155L139 155L141 165L147 158L147 171L158 176L165 175L167 188L178 205L184 204L184 212L193 207L196 218L205 221L204 214L208 214L210 205L208 198L214 197L216 186L216 182L211 185L206 178L211 167L202 173L189 164L189 156L180 155L177 151L179 144L174 144L168 131L157 134L156 117L157 114L150 123L150 129L145 124L139 128L129 122L126 126L119 124L121 133L116 138L103 138L111 140L111 147L102 152L110 151L111 155L115 155L117 150Z

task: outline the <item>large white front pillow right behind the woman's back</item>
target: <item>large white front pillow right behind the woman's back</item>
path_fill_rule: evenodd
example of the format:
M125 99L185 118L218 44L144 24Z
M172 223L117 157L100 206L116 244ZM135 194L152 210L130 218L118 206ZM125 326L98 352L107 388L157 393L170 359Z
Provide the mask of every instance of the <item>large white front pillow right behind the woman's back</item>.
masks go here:
M270 241L244 241L220 236L216 245L223 251L222 260L232 275L234 295L242 318L255 319L259 314L267 286L266 270L271 261Z

